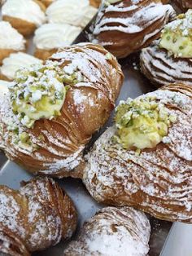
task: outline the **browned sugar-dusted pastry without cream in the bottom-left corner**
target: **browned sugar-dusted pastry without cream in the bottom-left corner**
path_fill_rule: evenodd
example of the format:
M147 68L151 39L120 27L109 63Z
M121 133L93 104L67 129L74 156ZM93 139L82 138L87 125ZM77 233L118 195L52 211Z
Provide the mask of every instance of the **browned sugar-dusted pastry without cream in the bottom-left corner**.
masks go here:
M75 207L53 179L32 179L18 191L0 185L0 254L29 255L71 237L75 229ZM11 254L14 249L17 254Z

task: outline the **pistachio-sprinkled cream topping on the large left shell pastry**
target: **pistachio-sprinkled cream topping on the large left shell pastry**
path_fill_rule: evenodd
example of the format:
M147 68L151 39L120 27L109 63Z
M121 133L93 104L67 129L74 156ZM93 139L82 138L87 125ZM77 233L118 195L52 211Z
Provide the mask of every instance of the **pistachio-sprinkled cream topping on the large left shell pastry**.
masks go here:
M65 72L54 62L20 69L10 87L13 113L28 128L41 118L59 116L68 88L82 80L80 76L76 71Z

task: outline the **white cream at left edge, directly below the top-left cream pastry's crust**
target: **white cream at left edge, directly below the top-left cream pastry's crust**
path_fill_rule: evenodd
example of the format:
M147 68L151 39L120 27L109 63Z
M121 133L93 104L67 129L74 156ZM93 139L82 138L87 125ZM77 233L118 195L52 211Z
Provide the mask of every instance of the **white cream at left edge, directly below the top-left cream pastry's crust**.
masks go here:
M25 48L24 37L11 27L7 21L0 22L0 48L13 49L15 51L23 51Z

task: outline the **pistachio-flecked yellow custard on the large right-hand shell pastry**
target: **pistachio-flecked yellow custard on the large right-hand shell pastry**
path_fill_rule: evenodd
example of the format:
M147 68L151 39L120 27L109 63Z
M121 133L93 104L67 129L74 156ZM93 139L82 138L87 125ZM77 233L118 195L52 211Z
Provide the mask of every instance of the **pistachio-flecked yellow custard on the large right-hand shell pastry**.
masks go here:
M152 97L128 99L116 108L115 139L126 149L155 148L176 117Z

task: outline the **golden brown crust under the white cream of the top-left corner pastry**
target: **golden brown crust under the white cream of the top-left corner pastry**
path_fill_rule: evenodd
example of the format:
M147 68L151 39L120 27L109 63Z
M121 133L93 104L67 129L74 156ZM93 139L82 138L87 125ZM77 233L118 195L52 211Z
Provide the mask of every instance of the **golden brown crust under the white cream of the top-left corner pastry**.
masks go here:
M28 22L27 20L22 20L8 15L3 15L2 20L11 23L11 26L14 29L18 30L24 36L31 35L36 29L36 25L31 22Z

